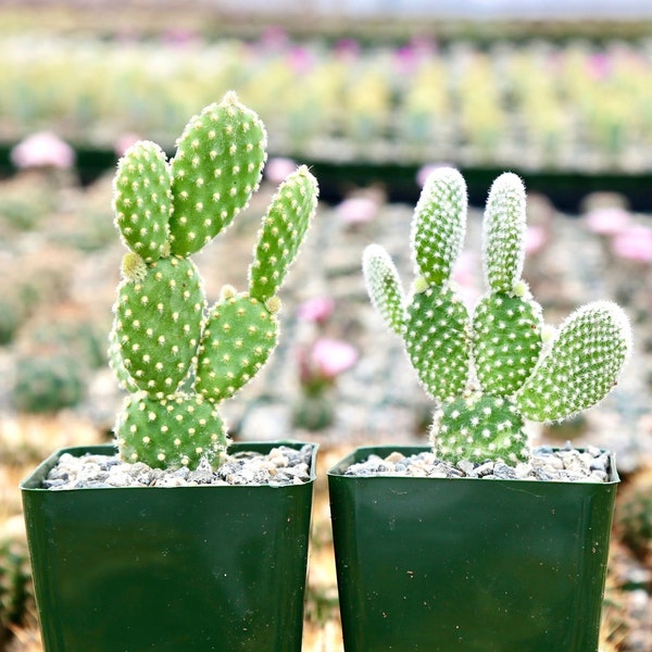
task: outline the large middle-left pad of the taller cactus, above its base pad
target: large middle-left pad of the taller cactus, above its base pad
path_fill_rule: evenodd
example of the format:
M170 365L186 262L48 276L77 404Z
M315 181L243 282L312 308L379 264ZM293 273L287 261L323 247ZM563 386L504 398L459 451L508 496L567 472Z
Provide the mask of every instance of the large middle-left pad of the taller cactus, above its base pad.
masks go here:
M177 390L201 336L205 298L195 264L161 259L140 281L124 279L114 306L124 368L150 396Z

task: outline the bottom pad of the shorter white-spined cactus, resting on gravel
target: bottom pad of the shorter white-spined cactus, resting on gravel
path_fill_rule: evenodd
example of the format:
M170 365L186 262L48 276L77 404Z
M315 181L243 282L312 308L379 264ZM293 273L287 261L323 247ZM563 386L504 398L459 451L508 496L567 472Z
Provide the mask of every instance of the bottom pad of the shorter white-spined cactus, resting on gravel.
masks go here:
M432 434L432 449L438 459L451 464L461 460L516 464L529 455L523 418L514 404L480 393L446 402Z

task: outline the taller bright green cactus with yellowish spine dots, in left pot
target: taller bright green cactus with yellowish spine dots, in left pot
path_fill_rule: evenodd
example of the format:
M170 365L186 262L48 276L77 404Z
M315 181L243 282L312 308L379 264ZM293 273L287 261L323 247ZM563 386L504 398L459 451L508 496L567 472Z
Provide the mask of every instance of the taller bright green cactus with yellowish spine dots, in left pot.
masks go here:
M227 92L192 117L167 160L133 145L114 178L115 225L129 250L114 304L109 359L129 392L115 425L120 454L152 467L220 465L228 448L218 404L263 367L278 340L277 291L316 210L300 166L263 217L248 289L209 306L191 254L248 205L266 160L258 115Z

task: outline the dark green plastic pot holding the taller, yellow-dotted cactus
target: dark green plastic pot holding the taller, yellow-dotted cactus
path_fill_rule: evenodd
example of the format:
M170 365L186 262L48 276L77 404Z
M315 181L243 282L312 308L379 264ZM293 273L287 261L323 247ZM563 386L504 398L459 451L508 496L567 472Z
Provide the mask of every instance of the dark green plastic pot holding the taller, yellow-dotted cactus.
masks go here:
M284 443L236 443L268 452ZM22 484L46 652L300 652L315 479L287 487Z

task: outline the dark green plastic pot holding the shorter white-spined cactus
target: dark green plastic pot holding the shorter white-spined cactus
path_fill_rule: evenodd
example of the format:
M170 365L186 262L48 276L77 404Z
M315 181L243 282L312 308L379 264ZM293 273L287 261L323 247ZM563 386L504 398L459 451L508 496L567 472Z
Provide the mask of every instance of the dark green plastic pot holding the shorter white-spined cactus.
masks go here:
M347 652L595 652L618 482L328 472Z

